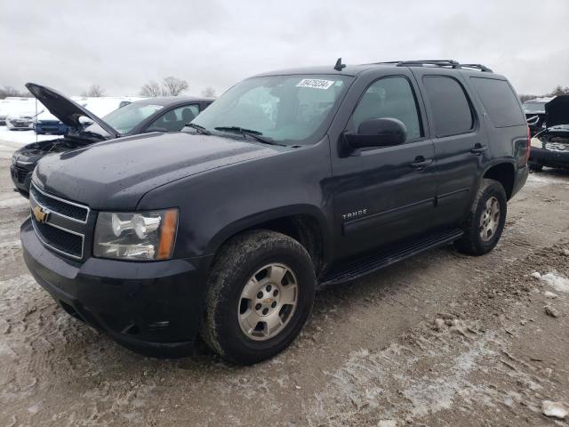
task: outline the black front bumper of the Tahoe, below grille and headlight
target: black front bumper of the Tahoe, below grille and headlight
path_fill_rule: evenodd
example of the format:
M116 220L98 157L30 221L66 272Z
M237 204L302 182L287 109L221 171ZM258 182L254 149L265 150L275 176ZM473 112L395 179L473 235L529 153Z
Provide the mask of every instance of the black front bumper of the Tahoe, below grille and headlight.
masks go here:
M20 237L28 269L70 315L148 356L180 357L193 350L210 257L76 263L45 248L30 219Z

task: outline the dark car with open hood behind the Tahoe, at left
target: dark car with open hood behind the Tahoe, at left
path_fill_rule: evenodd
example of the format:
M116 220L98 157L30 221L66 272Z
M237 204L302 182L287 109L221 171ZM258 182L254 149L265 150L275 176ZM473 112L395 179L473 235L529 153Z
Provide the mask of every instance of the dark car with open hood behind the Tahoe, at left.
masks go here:
M212 103L209 98L148 98L129 103L101 118L79 101L73 101L54 89L33 83L26 87L52 116L67 126L68 131L62 138L33 142L13 154L12 181L24 197L28 197L31 173L37 161L45 155L138 133L180 131ZM116 103L118 106L118 101Z

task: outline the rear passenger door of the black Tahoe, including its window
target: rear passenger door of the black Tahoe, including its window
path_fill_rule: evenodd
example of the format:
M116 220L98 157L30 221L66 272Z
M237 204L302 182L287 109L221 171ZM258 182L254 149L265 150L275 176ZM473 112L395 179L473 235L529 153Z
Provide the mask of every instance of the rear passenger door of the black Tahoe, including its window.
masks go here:
M456 226L468 212L490 151L476 109L457 73L413 68L427 105L437 159L439 226Z

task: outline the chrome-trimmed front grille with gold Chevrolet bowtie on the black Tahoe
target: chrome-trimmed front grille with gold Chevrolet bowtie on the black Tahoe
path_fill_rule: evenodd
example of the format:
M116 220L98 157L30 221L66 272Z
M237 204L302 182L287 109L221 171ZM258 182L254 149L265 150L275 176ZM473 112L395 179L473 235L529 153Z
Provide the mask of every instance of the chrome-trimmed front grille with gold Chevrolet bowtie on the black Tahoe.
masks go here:
M29 196L31 222L37 238L52 251L83 259L89 207L46 193L33 182Z

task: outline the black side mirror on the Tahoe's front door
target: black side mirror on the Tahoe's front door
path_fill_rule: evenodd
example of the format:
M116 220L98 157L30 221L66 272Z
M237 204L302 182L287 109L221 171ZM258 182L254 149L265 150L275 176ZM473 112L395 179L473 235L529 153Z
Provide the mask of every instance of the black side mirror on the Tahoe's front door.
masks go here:
M344 133L351 149L389 147L407 140L407 128L397 118L370 118L357 127L357 133Z

